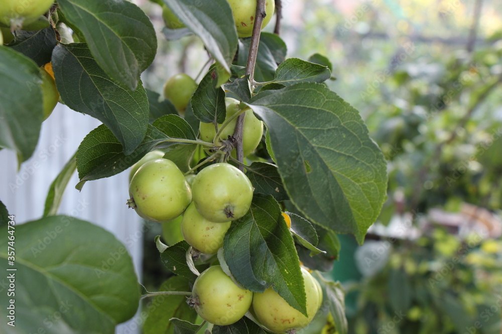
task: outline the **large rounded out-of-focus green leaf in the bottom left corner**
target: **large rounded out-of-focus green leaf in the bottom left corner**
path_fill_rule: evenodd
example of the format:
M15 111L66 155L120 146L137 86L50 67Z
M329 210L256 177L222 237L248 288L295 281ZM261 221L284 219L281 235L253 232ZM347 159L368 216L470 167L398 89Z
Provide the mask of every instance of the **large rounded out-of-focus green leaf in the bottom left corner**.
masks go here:
M0 235L0 266L6 268L7 228ZM52 216L16 225L15 262L9 267L17 269L19 332L47 326L51 333L112 334L138 309L138 278L126 247L89 222ZM4 319L8 300L0 299Z

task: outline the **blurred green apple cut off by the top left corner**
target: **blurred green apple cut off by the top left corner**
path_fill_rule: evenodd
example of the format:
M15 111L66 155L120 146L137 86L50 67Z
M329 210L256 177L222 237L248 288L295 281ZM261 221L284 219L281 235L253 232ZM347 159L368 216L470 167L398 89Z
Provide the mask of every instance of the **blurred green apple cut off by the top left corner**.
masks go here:
M2 0L0 6L0 23L20 29L46 13L54 0Z

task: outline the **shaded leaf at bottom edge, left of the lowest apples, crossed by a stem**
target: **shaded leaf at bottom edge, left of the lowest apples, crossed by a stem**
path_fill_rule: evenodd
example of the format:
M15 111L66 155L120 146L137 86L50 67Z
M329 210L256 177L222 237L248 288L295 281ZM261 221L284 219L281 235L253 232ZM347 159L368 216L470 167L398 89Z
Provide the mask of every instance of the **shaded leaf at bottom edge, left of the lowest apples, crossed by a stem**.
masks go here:
M185 277L172 276L159 288L159 291L190 291ZM197 313L190 308L184 295L158 295L147 304L147 318L143 325L145 334L174 334L175 323L171 318L194 322Z

